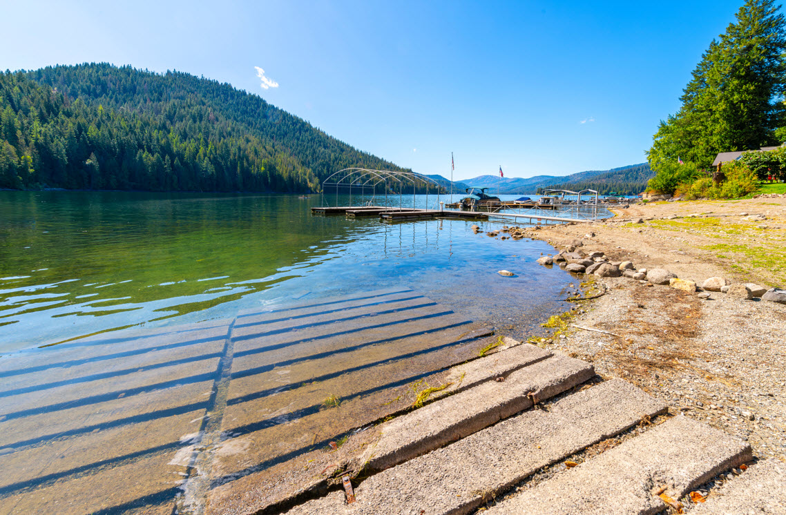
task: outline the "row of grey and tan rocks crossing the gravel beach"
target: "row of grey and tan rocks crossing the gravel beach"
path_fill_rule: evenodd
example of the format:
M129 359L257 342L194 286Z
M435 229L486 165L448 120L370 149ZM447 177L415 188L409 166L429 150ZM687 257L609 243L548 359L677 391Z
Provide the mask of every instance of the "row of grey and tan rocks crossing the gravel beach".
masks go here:
M564 250L557 254L545 255L538 259L540 265L558 265L567 272L586 274L597 277L626 277L642 284L659 284L672 287L676 290L695 294L700 298L711 298L710 292L724 294L725 298L752 300L760 298L762 301L786 304L786 290L769 288L755 283L733 284L724 277L710 277L701 286L695 281L681 279L676 274L665 268L636 268L631 261L610 261L603 252L597 250L584 251L584 243L575 239Z

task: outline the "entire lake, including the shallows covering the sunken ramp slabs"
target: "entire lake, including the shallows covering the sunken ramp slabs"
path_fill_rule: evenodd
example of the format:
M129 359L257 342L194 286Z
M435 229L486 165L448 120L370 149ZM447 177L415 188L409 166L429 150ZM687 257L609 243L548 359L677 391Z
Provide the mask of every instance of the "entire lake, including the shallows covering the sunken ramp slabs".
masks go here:
M499 222L322 202L0 192L0 512L201 513L406 408L476 331L537 333L578 283L546 243L472 232Z

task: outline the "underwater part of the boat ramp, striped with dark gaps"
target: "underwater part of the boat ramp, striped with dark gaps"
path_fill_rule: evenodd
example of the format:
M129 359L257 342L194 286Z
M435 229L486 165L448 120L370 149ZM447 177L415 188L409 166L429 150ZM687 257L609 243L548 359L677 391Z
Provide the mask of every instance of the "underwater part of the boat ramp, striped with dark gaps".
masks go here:
M401 409L396 389L476 356L483 334L395 289L8 356L0 511L189 513Z

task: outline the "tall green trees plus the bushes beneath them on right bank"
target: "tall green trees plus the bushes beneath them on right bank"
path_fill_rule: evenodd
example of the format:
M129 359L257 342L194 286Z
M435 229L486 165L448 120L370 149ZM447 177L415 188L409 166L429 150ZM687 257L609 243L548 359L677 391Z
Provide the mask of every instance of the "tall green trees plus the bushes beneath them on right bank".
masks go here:
M786 141L786 24L779 9L772 0L747 0L736 21L703 53L680 110L660 122L653 137L647 157L656 176L648 191L733 198L755 192L769 177L786 179L783 148L748 152L725 163L718 184L707 171L719 152Z

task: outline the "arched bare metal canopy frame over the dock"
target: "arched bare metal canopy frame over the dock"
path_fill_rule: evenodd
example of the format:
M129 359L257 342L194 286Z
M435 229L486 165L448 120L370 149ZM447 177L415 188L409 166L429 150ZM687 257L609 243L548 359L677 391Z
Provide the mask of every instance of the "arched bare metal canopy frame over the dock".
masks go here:
M418 185L426 187L426 206L428 206L428 190L432 185L436 188L437 202L439 202L441 188L439 183L422 173L352 167L331 173L325 178L325 181L322 181L323 204L325 203L325 186L328 186L329 188L336 188L336 205L338 204L339 191L347 191L349 193L350 206L352 205L352 188L356 188L355 191L359 188L362 196L365 196L365 188L372 188L372 199L368 201L368 204L372 205L376 196L376 186L379 184L384 184L385 206L387 206L387 193L398 190L399 209L403 209L404 188L410 184L413 188L413 207L415 206L415 195Z

